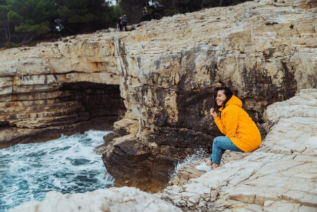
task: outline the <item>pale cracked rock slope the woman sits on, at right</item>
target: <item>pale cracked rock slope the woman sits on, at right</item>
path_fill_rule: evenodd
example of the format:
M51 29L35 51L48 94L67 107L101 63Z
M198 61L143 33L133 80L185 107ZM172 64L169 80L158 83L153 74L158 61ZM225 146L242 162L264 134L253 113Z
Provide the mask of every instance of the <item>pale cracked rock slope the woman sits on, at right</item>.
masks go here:
M157 196L185 211L316 211L316 111L317 89L270 105L262 148Z

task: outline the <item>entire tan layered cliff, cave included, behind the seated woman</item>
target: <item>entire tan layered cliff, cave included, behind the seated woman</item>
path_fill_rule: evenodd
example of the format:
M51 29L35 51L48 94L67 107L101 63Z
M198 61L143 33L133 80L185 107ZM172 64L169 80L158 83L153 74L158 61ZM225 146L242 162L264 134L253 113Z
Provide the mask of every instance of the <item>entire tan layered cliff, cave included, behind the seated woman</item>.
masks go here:
M219 135L208 114L216 86L230 86L259 124L267 105L316 87L316 5L248 2L2 51L0 144L120 120L107 170L117 185L160 187Z

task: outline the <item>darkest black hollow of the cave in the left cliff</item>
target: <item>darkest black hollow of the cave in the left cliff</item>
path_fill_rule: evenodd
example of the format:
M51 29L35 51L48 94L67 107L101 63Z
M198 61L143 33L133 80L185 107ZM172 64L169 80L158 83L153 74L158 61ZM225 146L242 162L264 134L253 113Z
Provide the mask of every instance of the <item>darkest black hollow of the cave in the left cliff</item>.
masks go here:
M78 121L90 121L91 129L112 130L113 123L122 119L127 111L118 85L65 83L60 91L60 100L69 102L69 107L79 115Z

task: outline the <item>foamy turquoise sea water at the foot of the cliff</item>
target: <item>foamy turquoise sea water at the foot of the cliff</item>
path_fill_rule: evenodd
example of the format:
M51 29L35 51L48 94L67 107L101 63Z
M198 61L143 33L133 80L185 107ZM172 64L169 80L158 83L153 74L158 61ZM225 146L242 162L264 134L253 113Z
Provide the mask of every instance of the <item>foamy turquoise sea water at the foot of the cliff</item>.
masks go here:
M109 131L62 136L46 143L0 150L0 211L24 201L43 200L48 191L83 193L113 186L94 152Z

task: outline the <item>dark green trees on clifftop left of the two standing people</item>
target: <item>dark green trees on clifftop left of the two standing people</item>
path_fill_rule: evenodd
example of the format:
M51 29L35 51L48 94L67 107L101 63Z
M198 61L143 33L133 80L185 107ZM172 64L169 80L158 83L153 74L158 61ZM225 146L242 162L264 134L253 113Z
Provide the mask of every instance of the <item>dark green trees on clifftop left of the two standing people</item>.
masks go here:
M112 16L104 0L0 0L0 47L103 29Z

